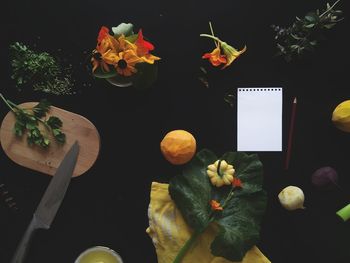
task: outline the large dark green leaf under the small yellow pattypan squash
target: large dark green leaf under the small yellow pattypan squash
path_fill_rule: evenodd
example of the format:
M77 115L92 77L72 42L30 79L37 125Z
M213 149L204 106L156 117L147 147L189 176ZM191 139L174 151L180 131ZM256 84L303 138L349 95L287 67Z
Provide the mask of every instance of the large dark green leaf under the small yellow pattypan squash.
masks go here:
M203 231L215 222L218 235L211 244L212 253L228 260L241 261L246 252L259 240L260 221L266 207L262 190L262 163L257 155L229 152L220 159L232 164L235 176L243 183L234 190L223 211L212 212L210 201L222 205L231 186L217 188L210 183L207 166L218 160L214 153L202 150L170 181L169 193L180 209L186 223L195 231Z

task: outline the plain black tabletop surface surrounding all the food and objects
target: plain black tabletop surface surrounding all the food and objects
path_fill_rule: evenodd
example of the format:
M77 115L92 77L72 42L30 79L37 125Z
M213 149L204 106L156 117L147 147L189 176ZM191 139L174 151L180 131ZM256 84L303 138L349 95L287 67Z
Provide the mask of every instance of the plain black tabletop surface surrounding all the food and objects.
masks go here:
M259 153L269 195L258 247L275 263L350 262L350 223L335 212L350 202L350 135L336 129L334 108L349 99L349 19L327 33L312 54L287 64L276 51L271 24L289 25L296 15L323 8L326 1L5 1L2 3L1 92L20 103L48 98L55 106L91 120L101 135L101 153L91 170L72 180L49 231L35 235L27 262L68 263L84 249L105 245L125 262L156 262L147 208L152 181L168 182L181 169L159 150L172 129L190 131L198 149L218 155L236 149L236 108L224 94L237 87L283 87L282 153ZM346 0L339 8L349 17ZM200 38L216 34L247 52L229 68L201 59L213 49ZM102 25L131 22L143 28L162 60L152 89L136 92L93 79L86 52L96 45ZM16 91L10 81L8 45L21 41L51 52L74 67L78 94L49 96ZM85 52L85 53L84 53ZM208 70L209 88L199 80ZM291 102L298 98L290 169L283 170ZM7 113L0 105L0 117ZM322 192L310 182L313 171L333 166L342 190ZM0 202L0 262L10 262L50 177L19 167L0 154L0 181L16 198L18 213ZM301 187L306 210L288 212L277 200L287 185Z

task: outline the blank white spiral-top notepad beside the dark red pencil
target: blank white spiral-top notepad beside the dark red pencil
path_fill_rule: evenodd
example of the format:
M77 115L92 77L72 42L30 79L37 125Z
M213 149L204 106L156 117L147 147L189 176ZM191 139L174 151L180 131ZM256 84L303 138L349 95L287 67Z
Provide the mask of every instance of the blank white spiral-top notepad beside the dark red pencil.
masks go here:
M282 151L282 88L238 88L237 151Z

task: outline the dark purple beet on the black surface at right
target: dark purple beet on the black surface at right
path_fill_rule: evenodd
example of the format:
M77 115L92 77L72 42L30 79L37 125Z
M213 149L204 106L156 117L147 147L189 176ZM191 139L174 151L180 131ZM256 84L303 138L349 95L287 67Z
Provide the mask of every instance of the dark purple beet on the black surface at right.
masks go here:
M311 181L314 186L319 188L338 186L338 173L332 167L321 167L312 174Z

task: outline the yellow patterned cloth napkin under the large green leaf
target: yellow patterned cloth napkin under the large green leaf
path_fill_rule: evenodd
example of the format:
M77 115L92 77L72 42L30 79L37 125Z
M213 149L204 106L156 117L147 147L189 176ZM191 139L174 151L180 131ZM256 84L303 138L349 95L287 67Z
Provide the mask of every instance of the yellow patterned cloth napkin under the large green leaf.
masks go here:
M158 263L171 263L184 243L191 237L192 230L185 223L169 192L168 184L152 183L151 200L148 208L149 227L146 232L156 248ZM186 253L182 263L229 263L227 259L215 257L210 244L217 233L217 227L210 225ZM271 263L254 246L241 263Z

